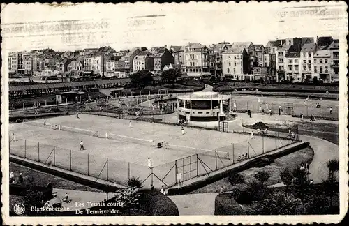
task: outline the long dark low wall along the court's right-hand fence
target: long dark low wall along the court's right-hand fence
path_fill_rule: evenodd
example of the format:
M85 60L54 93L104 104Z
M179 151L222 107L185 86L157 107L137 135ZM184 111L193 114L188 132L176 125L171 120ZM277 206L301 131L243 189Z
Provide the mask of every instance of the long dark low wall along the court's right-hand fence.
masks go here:
M309 146L309 142L299 142L297 144L292 144L292 146L285 146L281 149L275 150L272 153L267 153L262 156L258 156L255 158L251 158L250 160L246 160L246 163L240 164L240 165L232 165L230 167L227 167L225 169L218 170L215 174L205 177L204 179L200 181L195 181L191 184L188 184L186 186L182 186L180 190L178 188L169 188L168 194L169 195L181 195L190 193L193 190L197 190L198 188L202 188L204 186L207 186L207 184L214 183L216 181L219 181L229 174L235 173L235 172L242 172L246 169L256 167L258 165L258 158L265 158L266 156L268 158L276 159L280 158L282 156L286 156L290 153L293 153L295 151L299 151L300 149L304 149L307 146Z

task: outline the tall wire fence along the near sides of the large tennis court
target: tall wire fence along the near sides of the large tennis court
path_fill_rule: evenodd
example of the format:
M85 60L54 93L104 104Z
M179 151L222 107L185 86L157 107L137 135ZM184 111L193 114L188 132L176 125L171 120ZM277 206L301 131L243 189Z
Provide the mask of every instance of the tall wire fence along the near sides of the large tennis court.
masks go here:
M38 123L36 126L44 125L43 123ZM61 128L68 127L61 126ZM76 130L75 128L73 130L70 128L69 131L85 133L85 131ZM299 141L296 130L292 134L278 131L268 131L266 134L264 132L260 134L255 133L255 135L252 135L250 131L235 131L235 133L248 134L250 137L242 142L232 142L228 146L221 146L215 150L195 149L188 146L167 143L161 144L161 147L164 149L186 150L188 153L193 154L154 167L114 158L103 158L90 153L84 153L84 150L72 151L33 140L10 140L10 154L34 160L46 167L54 166L83 175L93 176L96 178L96 181L102 179L126 186L128 180L135 176L142 181L145 187L153 185L156 188L161 188L161 186L168 188L197 176L210 176L212 172L218 169L224 169L235 163L255 158ZM88 134L95 135L94 133ZM138 142L132 139L133 137L115 136L115 139ZM150 144L150 142L153 143L153 141L149 140L141 140L140 142L147 144ZM157 147L156 144L154 146Z

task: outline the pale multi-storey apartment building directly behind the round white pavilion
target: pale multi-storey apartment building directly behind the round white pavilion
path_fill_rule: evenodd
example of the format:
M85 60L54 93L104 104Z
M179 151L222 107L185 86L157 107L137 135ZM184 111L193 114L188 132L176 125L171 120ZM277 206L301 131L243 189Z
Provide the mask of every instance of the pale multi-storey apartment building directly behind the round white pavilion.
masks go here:
M184 50L184 73L192 77L209 75L209 51L200 43L188 43Z

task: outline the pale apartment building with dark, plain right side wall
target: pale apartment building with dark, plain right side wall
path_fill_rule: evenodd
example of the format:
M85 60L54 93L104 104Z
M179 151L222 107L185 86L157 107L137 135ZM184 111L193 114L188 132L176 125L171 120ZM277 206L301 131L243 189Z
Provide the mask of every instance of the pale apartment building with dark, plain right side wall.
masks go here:
M249 73L250 57L245 47L231 47L222 54L223 75L235 80L244 80Z

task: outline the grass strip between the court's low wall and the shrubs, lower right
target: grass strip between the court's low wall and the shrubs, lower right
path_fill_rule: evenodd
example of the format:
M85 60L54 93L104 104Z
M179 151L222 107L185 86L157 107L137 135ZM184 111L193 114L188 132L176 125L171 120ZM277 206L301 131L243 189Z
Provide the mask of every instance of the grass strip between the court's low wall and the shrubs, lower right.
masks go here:
M274 163L267 165L265 167L260 168L251 168L247 169L242 174L245 176L245 181L251 181L253 179L253 175L259 170L266 170L270 174L270 179L267 182L267 185L272 185L275 183L280 183L281 178L279 176L279 172L283 167L293 168L299 166L302 162L311 162L313 160L314 151L310 147L306 149L302 149L296 151L294 153L290 153L287 156L283 156L274 160ZM220 192L221 186L225 188L225 190L231 190L232 186L230 185L228 178L221 179L220 181L216 181L211 183L203 188L199 188L198 190L193 191L192 193L218 193ZM242 187L246 186L246 184L242 184Z

